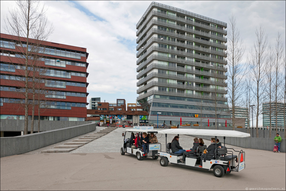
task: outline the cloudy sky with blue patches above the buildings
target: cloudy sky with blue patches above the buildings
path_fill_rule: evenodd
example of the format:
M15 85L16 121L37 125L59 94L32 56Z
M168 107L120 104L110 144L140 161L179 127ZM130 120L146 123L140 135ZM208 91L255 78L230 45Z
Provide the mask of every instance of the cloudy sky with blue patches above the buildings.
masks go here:
M87 48L88 92L91 97L115 103L135 103L136 23L152 1L41 1L55 28L49 41ZM253 46L255 28L263 24L269 42L275 44L278 31L285 45L286 1L156 1L228 23L233 13L247 50ZM15 5L1 1L3 17Z

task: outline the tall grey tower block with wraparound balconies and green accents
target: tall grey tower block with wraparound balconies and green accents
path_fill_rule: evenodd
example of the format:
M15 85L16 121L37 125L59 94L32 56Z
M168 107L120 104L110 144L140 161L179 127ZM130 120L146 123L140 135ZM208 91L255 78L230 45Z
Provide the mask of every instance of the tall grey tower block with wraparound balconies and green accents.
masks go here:
M136 25L137 101L149 123L225 125L227 23L152 2ZM160 113L160 114L158 114ZM198 115L198 118L196 118ZM230 120L228 120L228 123Z

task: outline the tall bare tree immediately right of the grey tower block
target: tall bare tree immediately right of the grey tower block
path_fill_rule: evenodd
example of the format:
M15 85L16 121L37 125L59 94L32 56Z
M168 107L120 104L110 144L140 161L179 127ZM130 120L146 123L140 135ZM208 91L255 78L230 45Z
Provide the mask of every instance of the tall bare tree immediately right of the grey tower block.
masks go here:
M245 91L243 86L246 73L246 63L242 63L245 46L241 39L239 28L236 25L236 18L234 15L229 17L230 28L228 32L228 49L227 49L227 67L228 67L228 86L229 101L232 107L232 123L233 130L235 130L235 111L236 106L241 105L242 96Z

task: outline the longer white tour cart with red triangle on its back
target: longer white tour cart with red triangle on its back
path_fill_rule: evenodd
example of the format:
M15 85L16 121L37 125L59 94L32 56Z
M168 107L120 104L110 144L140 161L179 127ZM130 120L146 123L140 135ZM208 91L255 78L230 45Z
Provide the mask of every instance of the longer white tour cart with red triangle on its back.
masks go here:
M206 145L198 146L196 149L196 153L194 157L186 157L184 163L180 162L183 154L174 154L171 151L171 143L167 143L167 134L183 134L183 135L191 135L197 136L199 135L210 135L215 136L217 140L217 136L224 137L249 137L249 133L243 133L239 131L231 131L231 130L212 130L212 129L166 129L158 131L160 134L165 134L166 136L166 152L158 152L158 156L160 157L161 166L168 166L168 163L177 164L181 166L188 166L197 169L205 169L210 170L213 169L213 173L217 177L222 177L225 173L231 173L232 171L239 172L245 168L245 152L235 151L231 148L226 147L216 147L215 155L213 155L212 160L203 159L202 168L200 168L200 160L203 150L207 147ZM192 143L192 141L190 141ZM238 154L237 155L234 155Z

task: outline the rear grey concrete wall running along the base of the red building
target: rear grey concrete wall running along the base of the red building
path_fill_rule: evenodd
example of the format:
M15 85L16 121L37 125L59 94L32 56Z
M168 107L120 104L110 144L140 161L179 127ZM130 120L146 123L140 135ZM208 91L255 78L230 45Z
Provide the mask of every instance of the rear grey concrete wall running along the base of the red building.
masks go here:
M29 120L28 131L31 131L31 122ZM61 129L64 127L73 127L77 125L89 124L89 121L47 121L40 120L40 131L50 131L55 129ZM1 131L24 131L25 120L21 119L1 119L0 130ZM38 131L38 120L34 120L34 131Z

